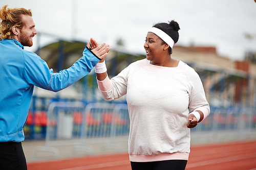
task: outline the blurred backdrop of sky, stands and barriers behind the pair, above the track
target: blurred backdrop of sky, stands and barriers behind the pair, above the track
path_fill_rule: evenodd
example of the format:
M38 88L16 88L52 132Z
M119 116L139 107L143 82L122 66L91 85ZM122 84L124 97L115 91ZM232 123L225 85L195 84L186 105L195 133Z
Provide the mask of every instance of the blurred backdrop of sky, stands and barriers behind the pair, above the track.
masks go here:
M38 34L25 49L54 72L72 66L91 37L110 44L110 77L145 58L144 39L154 23L174 19L181 30L172 57L198 72L211 107L209 117L191 129L191 144L256 138L255 1L1 0L0 5L32 10ZM103 100L94 70L57 93L35 88L24 128L27 161L125 152L129 125L125 96Z

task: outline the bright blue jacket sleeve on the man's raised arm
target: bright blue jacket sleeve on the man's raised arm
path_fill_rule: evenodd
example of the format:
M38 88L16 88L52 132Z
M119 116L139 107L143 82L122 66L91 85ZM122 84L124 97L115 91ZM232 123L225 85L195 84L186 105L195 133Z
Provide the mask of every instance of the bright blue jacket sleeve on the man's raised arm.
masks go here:
M39 56L32 52L24 51L24 76L29 84L56 92L88 75L99 60L86 47L82 58L70 68L54 73L53 69L49 69L47 63Z

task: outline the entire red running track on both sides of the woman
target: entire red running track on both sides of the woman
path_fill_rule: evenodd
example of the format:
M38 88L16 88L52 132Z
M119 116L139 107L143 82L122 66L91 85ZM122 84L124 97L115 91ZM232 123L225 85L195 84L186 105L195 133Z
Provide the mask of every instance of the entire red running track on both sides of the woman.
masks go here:
M131 170L128 154L28 163L28 170ZM256 140L191 147L187 170L256 170Z

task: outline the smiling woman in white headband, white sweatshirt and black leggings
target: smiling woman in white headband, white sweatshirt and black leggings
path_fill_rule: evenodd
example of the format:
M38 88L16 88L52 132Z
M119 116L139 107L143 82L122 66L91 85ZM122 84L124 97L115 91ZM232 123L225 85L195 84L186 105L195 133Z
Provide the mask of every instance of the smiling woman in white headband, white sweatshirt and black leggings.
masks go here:
M178 30L174 20L154 25L146 35L146 59L130 64L111 80L103 60L95 66L104 99L126 94L132 169L185 169L189 128L210 112L196 71L170 57L179 39ZM98 45L91 44L93 48Z

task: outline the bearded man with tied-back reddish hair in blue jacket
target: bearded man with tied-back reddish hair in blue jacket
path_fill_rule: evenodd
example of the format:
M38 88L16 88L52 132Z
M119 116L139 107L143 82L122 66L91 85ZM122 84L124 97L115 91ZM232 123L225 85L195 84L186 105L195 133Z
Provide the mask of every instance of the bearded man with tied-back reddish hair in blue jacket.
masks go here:
M34 86L55 92L64 89L89 74L111 48L102 43L91 50L87 42L80 60L53 73L39 56L24 50L37 34L31 11L6 5L0 18L0 169L27 169L21 142Z

